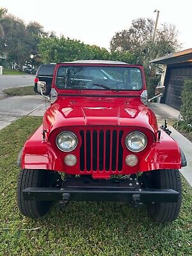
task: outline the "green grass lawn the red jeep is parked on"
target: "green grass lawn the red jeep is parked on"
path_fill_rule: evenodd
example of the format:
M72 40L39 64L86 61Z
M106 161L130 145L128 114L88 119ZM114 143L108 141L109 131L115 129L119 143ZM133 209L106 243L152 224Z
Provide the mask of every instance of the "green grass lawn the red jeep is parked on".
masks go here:
M73 202L65 210L55 204L40 220L21 216L15 161L41 122L28 116L0 131L0 255L192 255L192 191L184 180L182 210L172 224L154 223L145 208L113 202Z

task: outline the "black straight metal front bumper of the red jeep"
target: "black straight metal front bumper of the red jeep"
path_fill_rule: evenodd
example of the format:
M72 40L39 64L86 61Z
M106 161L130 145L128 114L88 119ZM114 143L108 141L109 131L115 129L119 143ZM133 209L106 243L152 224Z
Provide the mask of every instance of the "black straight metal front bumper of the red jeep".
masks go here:
M68 178L62 188L26 188L24 200L40 201L113 201L147 204L177 202L179 192L173 189L142 189L138 180L93 180Z

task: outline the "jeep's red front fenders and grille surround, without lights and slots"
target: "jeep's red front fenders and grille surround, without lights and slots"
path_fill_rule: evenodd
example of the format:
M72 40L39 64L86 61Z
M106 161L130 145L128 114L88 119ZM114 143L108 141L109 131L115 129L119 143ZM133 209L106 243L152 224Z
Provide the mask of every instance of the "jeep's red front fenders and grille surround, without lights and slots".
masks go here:
M180 159L180 150L177 143L166 134L164 131L161 131L161 140L154 141L152 132L147 129L138 127L124 127L129 133L130 131L142 131L145 132L148 136L148 146L140 153L135 153L138 156L139 163L134 167L129 167L125 164L125 157L128 154L132 154L124 146L123 154L123 168L122 171L102 171L99 170L94 172L90 170L89 172L80 171L79 161L77 161L76 166L68 167L63 163L63 159L67 153L61 152L56 147L54 143L55 132L52 132L50 136L50 142L42 140L42 126L31 136L31 138L24 145L24 150L22 153L22 169L47 169L55 170L58 172L65 172L69 174L92 174L95 178L108 178L110 175L115 174L131 174L137 172L145 172L148 170L157 170L157 169L178 169L181 168L181 159ZM94 127L95 128L95 127ZM122 127L120 127L122 129ZM133 129L132 129L133 128ZM59 129L58 132L61 131ZM93 129L92 127L86 127L86 129ZM108 127L102 127L102 129L108 129ZM113 127L111 127L113 129ZM117 129L117 127L115 128ZM79 147L81 146L81 138L79 138L77 130L79 127L66 127L67 131L73 131L76 133L79 140L79 145L72 152L79 159ZM58 134L56 132L56 134ZM122 141L125 139L125 135L122 137ZM123 142L122 142L123 144Z

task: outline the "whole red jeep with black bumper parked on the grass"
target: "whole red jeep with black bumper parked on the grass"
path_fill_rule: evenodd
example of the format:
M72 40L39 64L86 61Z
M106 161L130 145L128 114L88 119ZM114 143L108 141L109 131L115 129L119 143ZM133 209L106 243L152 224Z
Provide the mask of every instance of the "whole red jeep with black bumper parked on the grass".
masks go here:
M45 90L38 82L38 92ZM22 214L43 216L56 200L116 201L147 205L155 221L177 218L179 168L186 159L166 124L158 127L147 108L141 65L58 63L50 100L43 124L18 158Z

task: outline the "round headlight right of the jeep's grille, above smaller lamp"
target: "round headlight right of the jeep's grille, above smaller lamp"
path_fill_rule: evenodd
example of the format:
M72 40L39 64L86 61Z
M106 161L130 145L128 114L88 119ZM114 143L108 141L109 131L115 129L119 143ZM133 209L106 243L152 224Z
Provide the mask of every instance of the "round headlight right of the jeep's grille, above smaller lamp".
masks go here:
M147 138L141 132L132 132L127 135L125 144L132 152L140 152L147 146Z

